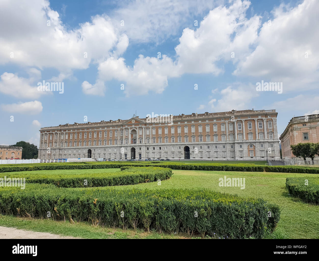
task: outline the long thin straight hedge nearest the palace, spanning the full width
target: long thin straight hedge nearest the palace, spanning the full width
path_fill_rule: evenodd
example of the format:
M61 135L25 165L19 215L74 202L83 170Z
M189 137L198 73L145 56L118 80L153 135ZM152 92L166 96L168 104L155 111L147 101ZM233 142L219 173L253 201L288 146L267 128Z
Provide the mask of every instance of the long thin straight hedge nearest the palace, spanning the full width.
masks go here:
M65 163L65 164L37 164L23 166L0 166L0 172L29 171L29 170L74 170L74 169L108 169L121 166L158 166L173 170L217 170L217 171L254 171L254 172L285 172L319 174L319 168L303 166L260 166L255 164L225 164L225 163L134 163L134 162L106 162L106 163Z

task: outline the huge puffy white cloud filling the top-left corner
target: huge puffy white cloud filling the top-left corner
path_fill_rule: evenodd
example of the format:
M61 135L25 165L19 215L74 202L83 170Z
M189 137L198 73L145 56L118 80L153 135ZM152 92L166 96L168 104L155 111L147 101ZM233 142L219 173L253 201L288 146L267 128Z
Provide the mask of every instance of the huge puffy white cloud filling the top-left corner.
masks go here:
M125 35L108 16L94 16L78 29L67 30L47 0L2 1L0 24L10 25L0 27L1 64L55 68L69 74L110 57L115 48L122 54L127 47Z

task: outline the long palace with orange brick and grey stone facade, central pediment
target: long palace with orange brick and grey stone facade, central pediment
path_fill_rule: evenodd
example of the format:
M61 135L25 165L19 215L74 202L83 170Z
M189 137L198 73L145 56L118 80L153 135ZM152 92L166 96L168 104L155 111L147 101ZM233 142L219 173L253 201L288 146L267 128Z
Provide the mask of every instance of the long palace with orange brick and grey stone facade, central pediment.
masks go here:
M43 127L39 158L279 160L277 114L232 110Z

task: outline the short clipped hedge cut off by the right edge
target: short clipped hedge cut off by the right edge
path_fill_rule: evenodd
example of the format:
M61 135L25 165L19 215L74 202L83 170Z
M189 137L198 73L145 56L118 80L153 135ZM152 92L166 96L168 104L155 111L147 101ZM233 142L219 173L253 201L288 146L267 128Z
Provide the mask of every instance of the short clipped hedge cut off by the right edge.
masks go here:
M298 197L307 203L319 203L319 178L286 178L286 187L289 194Z

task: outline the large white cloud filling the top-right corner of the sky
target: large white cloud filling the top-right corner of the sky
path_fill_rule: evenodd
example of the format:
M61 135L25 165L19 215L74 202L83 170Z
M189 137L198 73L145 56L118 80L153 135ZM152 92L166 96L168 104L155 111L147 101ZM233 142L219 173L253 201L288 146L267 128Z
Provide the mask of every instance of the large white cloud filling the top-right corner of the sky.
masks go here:
M234 74L282 82L284 92L317 88L318 12L317 0L305 0L294 8L281 4L274 9L271 25L263 24L256 49L239 62Z

